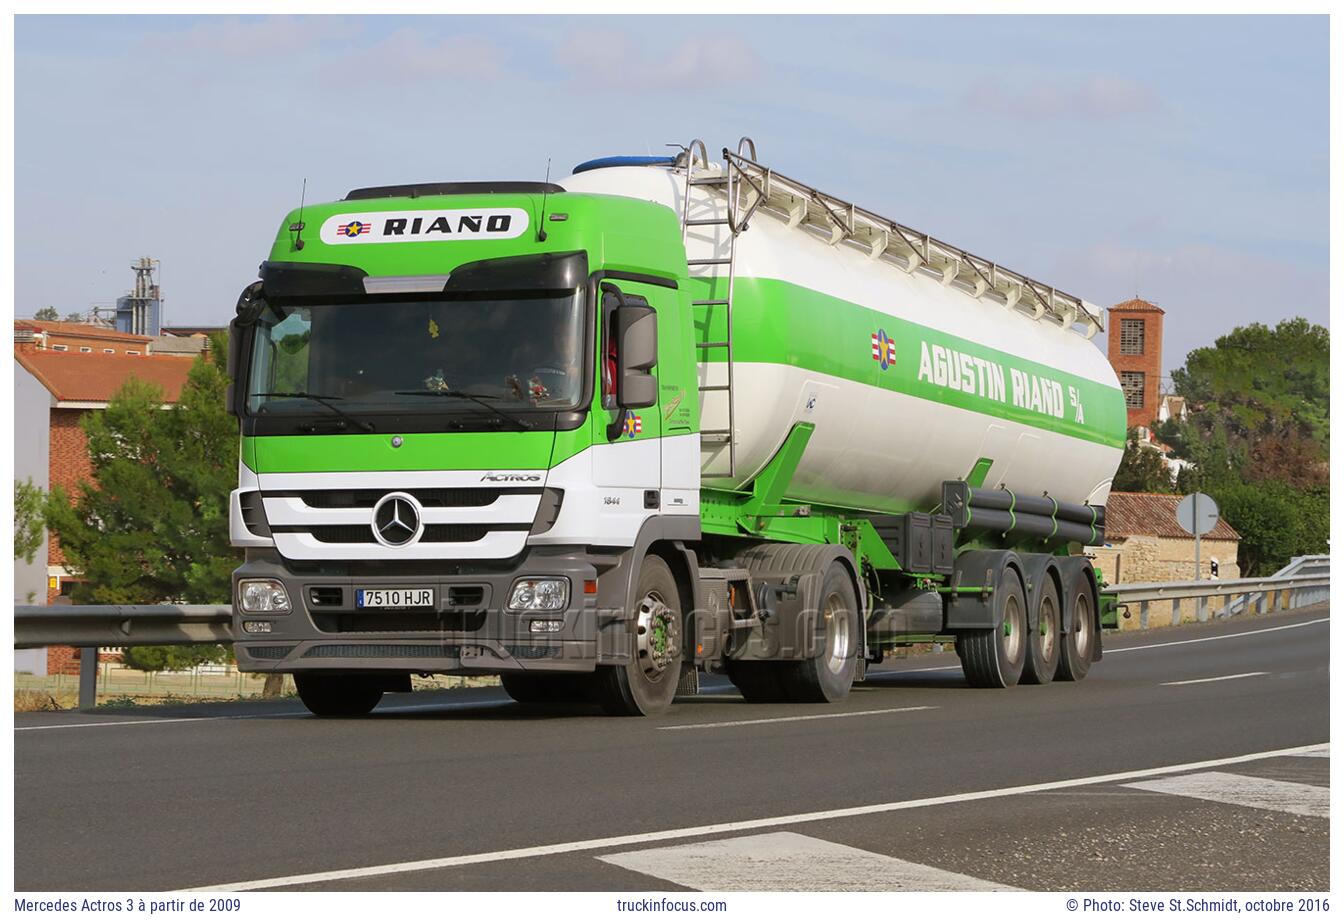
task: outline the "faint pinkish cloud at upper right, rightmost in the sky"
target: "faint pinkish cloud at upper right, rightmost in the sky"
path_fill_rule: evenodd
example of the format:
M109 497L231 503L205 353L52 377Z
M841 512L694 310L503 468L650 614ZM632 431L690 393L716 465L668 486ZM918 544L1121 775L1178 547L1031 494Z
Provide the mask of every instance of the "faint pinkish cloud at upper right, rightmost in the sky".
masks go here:
M1081 82L1060 79L1020 87L985 79L972 85L961 102L980 114L1036 120L1125 118L1152 114L1164 107L1163 99L1150 86L1102 74Z

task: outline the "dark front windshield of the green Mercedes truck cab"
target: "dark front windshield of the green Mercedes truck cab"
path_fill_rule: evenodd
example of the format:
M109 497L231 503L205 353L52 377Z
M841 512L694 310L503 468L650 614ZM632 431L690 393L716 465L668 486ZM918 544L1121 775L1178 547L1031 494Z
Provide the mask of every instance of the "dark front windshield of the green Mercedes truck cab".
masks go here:
M575 408L582 342L578 291L271 305L257 322L249 410L320 412L308 394L356 416L478 412L478 400L509 412Z

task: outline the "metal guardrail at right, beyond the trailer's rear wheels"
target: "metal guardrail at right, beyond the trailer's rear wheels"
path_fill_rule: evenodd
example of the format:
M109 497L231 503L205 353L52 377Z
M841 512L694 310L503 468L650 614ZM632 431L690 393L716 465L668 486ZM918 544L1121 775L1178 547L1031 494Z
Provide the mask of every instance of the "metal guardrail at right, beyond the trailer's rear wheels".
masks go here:
M1329 598L1331 560L1329 556L1304 556L1309 563L1263 579L1204 579L1199 582L1154 582L1149 584L1113 584L1102 590L1102 596L1116 599L1121 616L1138 616L1138 629L1153 623L1153 604L1168 604L1171 625L1179 626L1193 600L1195 620L1204 623L1210 616L1218 619L1234 614L1266 614L1270 610L1294 610L1308 604L1321 603ZM1298 560L1294 560L1297 563ZM1223 606L1214 611L1210 600L1223 598ZM1165 612L1165 611L1161 611Z

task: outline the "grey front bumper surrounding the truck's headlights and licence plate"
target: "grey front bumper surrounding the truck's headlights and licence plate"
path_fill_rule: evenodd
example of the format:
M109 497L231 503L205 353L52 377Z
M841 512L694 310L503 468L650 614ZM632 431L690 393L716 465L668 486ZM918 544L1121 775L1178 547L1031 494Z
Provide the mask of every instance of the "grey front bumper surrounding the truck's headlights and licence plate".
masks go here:
M504 610L519 578L570 580L563 611ZM288 614L243 614L238 582L284 583ZM501 564L288 563L271 551L250 551L234 572L234 651L242 672L399 672L433 674L591 672L598 663L597 595L585 582L598 571L582 552L532 549ZM433 588L434 607L362 610L359 588ZM265 620L270 633L249 634L245 622ZM563 620L555 633L534 633L534 620Z

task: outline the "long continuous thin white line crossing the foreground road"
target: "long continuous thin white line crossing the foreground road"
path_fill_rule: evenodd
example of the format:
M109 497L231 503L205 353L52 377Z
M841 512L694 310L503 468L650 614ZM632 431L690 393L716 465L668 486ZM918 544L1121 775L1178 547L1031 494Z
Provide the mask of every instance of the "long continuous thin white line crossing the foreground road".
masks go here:
M521 846L512 850L493 850L489 853L465 853L461 856L448 856L435 860L414 860L410 862L387 862L382 865L359 866L353 869L333 869L331 872L310 872L302 876L277 876L274 878L254 878L250 881L235 881L224 885L210 885L190 890L246 892L246 890L258 890L263 888L289 888L293 885L313 885L324 881L340 881L345 878L371 878L374 876L394 876L407 872L425 872L429 869L452 869L456 866L480 865L482 862L531 860L539 856L555 856L560 853L583 853L587 850L605 850L618 846L638 846L641 843L656 843L661 841L685 839L689 837L735 834L745 830L761 830L762 827L786 827L789 825L804 825L814 821L856 818L860 815L883 814L888 811L905 811L909 809L925 809L935 804L952 804L956 802L977 802L982 799L1000 799L1009 795L1025 795L1027 792L1047 792L1051 790L1074 788L1078 786L1099 786L1103 783L1121 783L1130 779L1141 779L1144 776L1163 776L1167 774L1189 772L1191 770L1210 770L1212 767L1226 767L1236 763L1251 763L1254 760L1269 760L1271 757L1292 757L1304 751L1316 751L1317 748L1320 748L1318 741L1314 744L1304 744L1296 748L1279 748L1277 751L1258 751L1255 753L1242 753L1234 757L1219 757L1218 760L1200 760L1196 763L1171 764L1168 767L1149 767L1148 770L1129 770L1120 774L1099 774L1097 776L1059 779L1048 783L1032 783L1030 786L1007 786L1003 788L980 790L976 792L934 795L926 799L906 799L903 802L883 802L880 804L860 804L849 809L832 809L829 811L805 811L801 814L777 815L771 818L727 821L718 825L673 827L669 830L656 830L646 834L626 834L624 837L598 837L586 841L543 843L540 846Z

